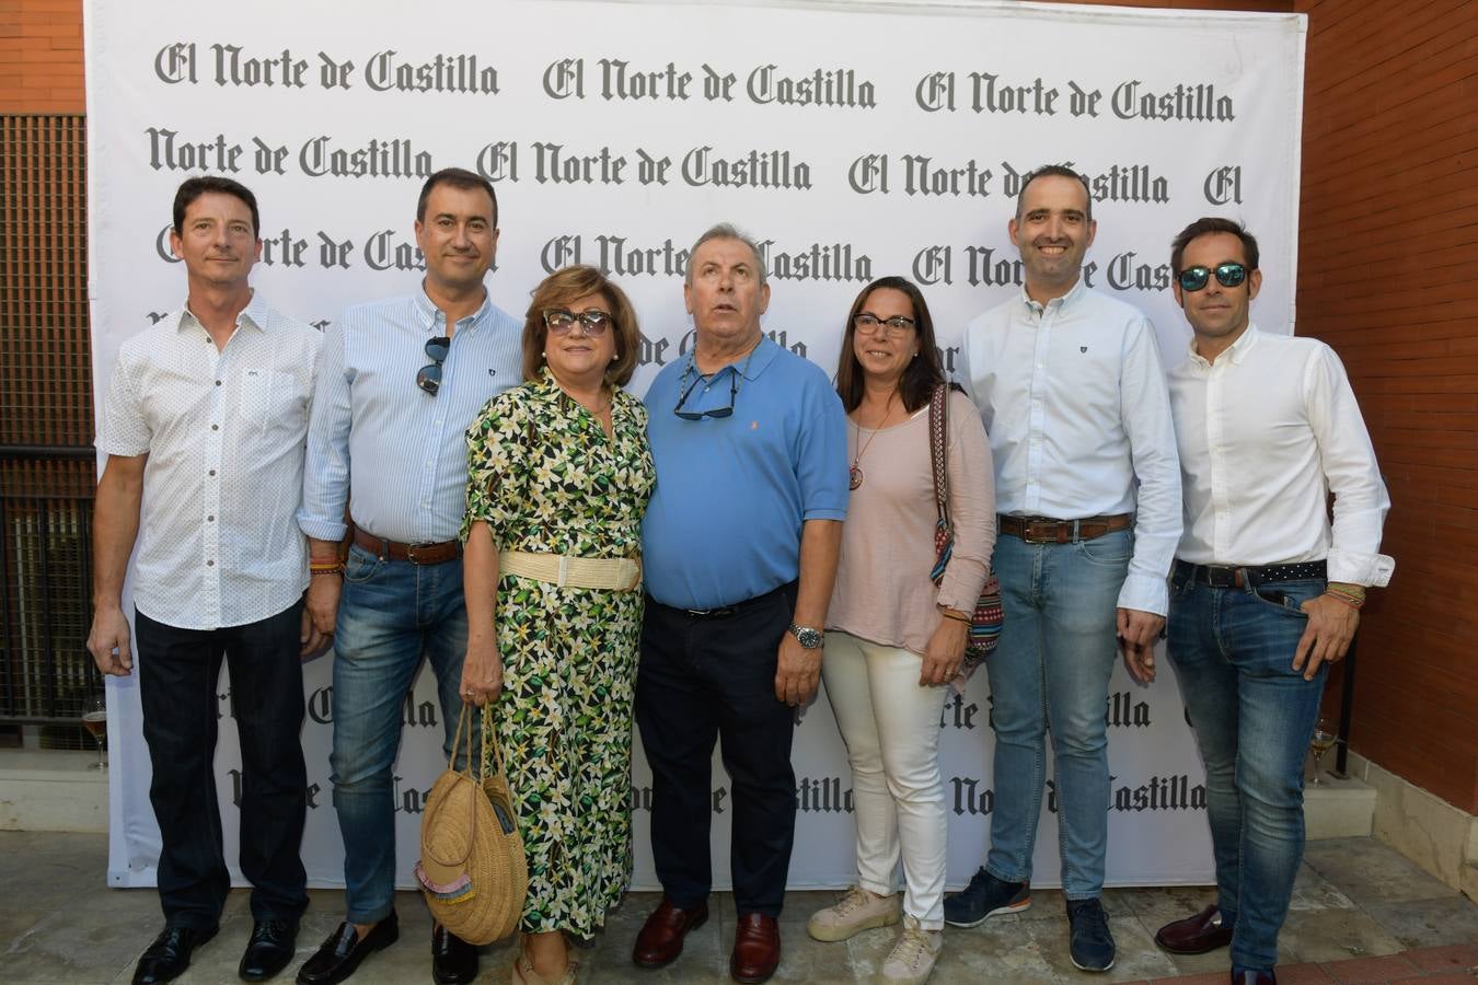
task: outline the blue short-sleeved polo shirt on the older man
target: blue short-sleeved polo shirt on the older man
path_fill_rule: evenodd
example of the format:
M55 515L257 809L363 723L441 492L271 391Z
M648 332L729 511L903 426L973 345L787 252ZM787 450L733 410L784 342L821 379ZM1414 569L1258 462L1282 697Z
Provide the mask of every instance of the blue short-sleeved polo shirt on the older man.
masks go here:
M721 608L794 582L801 524L847 517L847 415L826 374L761 338L748 360L698 381L674 413L692 356L658 374L646 394L656 492L641 521L652 598L675 608Z

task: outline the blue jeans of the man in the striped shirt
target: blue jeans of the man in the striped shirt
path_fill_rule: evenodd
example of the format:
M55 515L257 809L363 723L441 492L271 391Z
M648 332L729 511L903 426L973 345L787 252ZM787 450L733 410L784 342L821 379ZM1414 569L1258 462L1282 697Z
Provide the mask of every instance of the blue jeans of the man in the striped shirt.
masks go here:
M461 560L417 566L383 561L358 545L349 549L334 636L330 766L350 923L377 923L395 907L392 774L405 696L423 654L436 673L442 749L451 755L467 654L461 570Z

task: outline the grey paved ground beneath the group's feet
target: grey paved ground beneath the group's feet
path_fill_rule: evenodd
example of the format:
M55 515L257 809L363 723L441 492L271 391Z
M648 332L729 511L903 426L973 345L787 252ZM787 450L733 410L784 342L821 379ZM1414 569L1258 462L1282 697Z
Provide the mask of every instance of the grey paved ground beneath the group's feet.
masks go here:
M133 964L160 930L154 890L106 889L106 837L0 831L0 982L129 982ZM299 936L304 960L340 920L337 890L313 890ZM782 917L785 960L776 982L863 982L893 947L891 930L845 944L806 936L806 919L831 893L795 892ZM1212 899L1209 889L1113 889L1104 904L1119 941L1119 963L1089 976L1067 958L1067 919L1055 890L1038 892L1030 910L975 930L949 929L931 982L1128 982L1227 981L1227 953L1171 957L1154 930ZM726 982L733 899L715 898L715 919L690 938L683 957L661 972L630 961L631 941L655 905L633 893L590 950L578 953L581 982L655 985ZM430 981L430 921L414 893L401 893L401 942L368 958L355 985ZM236 961L251 930L244 890L231 895L220 935L195 955L183 985L236 981ZM1453 892L1389 848L1369 839L1311 842L1299 871L1293 910L1281 938L1280 981L1478 982L1478 904ZM508 981L510 944L483 950L480 982ZM1187 976L1187 978L1176 978ZM284 973L278 981L290 982Z

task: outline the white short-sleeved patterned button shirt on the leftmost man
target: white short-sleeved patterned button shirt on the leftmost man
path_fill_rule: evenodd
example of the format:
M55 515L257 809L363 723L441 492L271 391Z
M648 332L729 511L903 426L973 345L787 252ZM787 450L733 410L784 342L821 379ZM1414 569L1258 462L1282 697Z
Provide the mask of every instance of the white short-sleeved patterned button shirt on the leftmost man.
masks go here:
M307 588L294 512L319 340L253 292L225 349L188 309L123 344L98 447L149 456L133 580L149 619L241 626Z

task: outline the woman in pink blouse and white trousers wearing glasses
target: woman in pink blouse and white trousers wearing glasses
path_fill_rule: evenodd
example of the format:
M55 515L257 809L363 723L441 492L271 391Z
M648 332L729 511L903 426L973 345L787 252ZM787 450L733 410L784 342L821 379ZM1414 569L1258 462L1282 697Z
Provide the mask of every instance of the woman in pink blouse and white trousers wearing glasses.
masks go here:
M939 722L961 675L970 613L995 546L990 443L950 393L949 509L955 552L940 588L928 403L944 382L934 325L903 278L869 284L847 315L837 391L850 421L851 502L826 620L822 676L851 763L857 886L816 913L817 941L903 921L884 981L922 982L944 926L944 786ZM894 871L903 858L905 890Z

